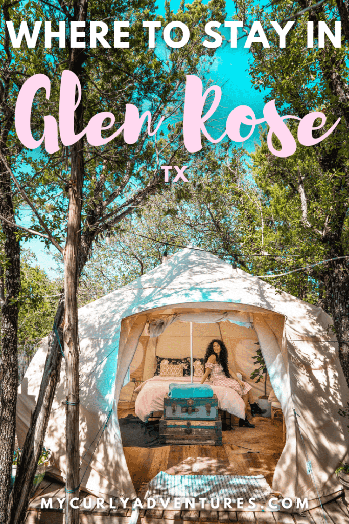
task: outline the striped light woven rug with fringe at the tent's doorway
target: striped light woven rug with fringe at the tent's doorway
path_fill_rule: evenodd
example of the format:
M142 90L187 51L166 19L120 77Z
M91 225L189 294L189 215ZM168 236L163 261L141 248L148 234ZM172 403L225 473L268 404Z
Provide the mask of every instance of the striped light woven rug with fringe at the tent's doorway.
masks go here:
M142 486L139 497L153 498L156 503L160 499L194 498L195 503L200 503L200 498L209 502L213 499L217 504L224 504L224 498L231 499L232 503L237 498L248 501L254 498L256 504L265 503L271 494L271 488L263 475L256 476L231 476L231 475L169 475L161 471L147 485Z

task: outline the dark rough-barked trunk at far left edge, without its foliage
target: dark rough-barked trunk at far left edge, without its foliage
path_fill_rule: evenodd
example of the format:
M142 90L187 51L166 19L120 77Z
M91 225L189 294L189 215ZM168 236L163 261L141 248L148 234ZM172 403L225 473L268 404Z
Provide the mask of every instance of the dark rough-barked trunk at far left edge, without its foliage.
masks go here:
M0 182L0 214L14 221L11 184L7 173ZM0 522L6 521L7 504L15 450L16 405L18 388L18 294L20 291L20 247L16 227L2 223L5 235L6 297L1 309L1 369L0 369Z

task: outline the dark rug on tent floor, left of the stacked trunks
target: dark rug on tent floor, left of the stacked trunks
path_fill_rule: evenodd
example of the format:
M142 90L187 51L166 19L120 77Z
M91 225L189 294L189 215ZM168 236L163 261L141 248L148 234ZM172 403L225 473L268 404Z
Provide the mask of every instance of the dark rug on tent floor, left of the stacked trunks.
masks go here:
M134 415L119 419L123 447L162 447L159 439L159 420L142 422Z

